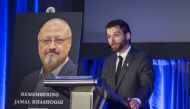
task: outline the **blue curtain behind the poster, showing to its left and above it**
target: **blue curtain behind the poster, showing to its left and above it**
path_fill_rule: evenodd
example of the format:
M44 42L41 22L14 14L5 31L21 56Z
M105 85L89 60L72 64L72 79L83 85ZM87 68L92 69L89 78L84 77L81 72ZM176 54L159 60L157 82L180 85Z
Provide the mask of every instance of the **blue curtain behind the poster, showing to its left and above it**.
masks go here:
M5 109L6 102L6 72L7 72L7 57L8 57L8 40L9 40L9 22L14 22L15 13L28 12L28 0L16 0L15 8L12 0L0 0L0 109ZM13 7L9 7L9 5ZM38 0L33 0L33 12L38 12ZM10 12L10 10L14 12ZM15 11L16 10L16 11ZM10 13L9 13L10 12ZM11 18L9 18L11 15ZM10 21L12 20L12 21ZM12 26L13 24L11 24ZM13 28L12 28L13 29Z

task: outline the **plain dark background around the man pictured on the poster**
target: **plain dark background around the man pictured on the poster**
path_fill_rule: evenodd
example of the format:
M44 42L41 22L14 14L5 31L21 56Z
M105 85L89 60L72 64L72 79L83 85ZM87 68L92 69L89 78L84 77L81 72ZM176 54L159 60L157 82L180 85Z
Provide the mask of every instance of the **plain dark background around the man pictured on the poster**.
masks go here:
M75 65L78 64L79 48L80 48L80 37L81 37L81 24L82 14L79 12L72 13L56 13L56 14L18 14L16 17L16 28L12 42L10 43L10 66L8 69L8 94L6 108L13 109L16 105L21 107L31 104L31 101L26 99L19 99L22 96L19 92L20 84L23 78L42 68L42 63L38 55L38 33L42 25L52 19L60 18L65 20L71 27L72 31L72 46L69 52L69 58ZM37 77L36 77L37 78ZM35 79L35 78L34 78ZM32 86L33 84L28 84ZM49 100L59 97L59 93L48 93L50 94ZM38 95L23 95L23 96L38 96ZM47 95L49 96L49 95ZM49 102L49 101L47 101ZM47 103L46 102L46 103ZM37 102L37 104L41 104ZM36 104L36 103L35 103ZM65 104L65 101L51 101L52 107L57 108L59 105ZM47 107L50 109L49 107Z

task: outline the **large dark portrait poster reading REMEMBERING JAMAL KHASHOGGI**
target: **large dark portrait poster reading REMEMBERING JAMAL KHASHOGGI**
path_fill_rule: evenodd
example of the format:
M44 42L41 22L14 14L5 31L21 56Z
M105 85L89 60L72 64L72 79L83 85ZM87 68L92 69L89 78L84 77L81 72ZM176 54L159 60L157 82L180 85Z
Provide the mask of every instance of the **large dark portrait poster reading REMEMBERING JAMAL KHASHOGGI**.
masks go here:
M44 79L77 76L82 13L18 14L10 37L7 109L69 109L70 88Z

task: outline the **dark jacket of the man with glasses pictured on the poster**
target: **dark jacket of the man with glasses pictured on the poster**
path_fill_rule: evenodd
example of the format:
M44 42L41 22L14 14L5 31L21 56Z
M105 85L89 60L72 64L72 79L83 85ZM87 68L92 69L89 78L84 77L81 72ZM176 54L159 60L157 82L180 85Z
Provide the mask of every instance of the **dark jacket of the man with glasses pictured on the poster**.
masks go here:
M61 69L61 71L59 72L58 76L75 76L77 75L77 66L71 61L69 60ZM40 80L40 70L35 71L30 73L29 75L27 75L26 77L24 77L22 84L21 84L21 88L20 88L20 92L35 92L36 87L39 83ZM49 87L45 87L43 84L40 87L40 92L50 92L50 93L57 93L57 90L54 90L53 88L49 88ZM68 90L68 89L66 89ZM64 90L63 90L64 91ZM37 100L63 100L64 104L63 105L20 105L22 107L22 109L25 109L27 107L30 108L47 108L48 109L62 109L64 107L64 109L69 109L69 98L67 95L69 95L69 93L67 91L64 91L65 95L63 95L63 93L59 94L59 97L20 97L20 99L37 99ZM16 106L18 109L20 108L20 106ZM56 106L56 107L55 107Z

